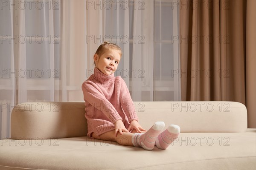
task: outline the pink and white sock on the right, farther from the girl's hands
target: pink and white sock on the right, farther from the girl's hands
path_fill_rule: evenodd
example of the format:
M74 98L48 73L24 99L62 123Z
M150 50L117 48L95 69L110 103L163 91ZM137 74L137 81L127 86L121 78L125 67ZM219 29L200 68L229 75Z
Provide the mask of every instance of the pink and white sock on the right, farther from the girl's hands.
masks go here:
M178 125L169 125L166 130L160 133L156 139L156 146L159 149L166 149L180 134Z

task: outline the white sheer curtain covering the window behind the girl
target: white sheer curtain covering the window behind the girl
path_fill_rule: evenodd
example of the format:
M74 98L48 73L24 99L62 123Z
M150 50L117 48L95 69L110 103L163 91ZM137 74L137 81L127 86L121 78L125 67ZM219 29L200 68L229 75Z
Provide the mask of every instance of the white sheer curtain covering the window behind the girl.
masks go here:
M175 6L173 5L175 3ZM0 136L21 102L83 101L104 41L123 50L120 75L134 101L178 101L177 1L9 0L0 13ZM24 6L24 4L26 6ZM16 8L15 8L16 6Z

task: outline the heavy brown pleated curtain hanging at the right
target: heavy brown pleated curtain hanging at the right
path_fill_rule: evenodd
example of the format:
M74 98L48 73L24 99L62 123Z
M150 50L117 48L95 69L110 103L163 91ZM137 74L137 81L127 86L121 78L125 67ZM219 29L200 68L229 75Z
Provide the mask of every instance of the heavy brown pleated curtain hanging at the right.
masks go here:
M249 128L256 127L255 10L254 0L180 0L182 100L241 102Z

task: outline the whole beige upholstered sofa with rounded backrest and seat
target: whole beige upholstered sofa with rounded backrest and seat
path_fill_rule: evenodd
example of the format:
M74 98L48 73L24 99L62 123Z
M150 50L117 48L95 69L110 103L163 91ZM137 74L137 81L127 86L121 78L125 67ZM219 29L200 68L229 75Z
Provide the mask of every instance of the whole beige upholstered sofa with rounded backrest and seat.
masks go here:
M256 129L238 102L135 102L140 124L180 126L166 150L88 139L84 102L22 103L3 138L1 170L256 169Z

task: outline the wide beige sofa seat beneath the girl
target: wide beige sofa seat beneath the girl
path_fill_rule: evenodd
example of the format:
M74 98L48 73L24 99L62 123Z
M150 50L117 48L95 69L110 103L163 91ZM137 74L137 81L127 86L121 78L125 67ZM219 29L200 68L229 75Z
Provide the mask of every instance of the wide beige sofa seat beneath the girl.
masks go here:
M180 133L166 150L154 147L152 151L85 136L26 141L2 139L0 155L1 170L255 170L256 129L247 129L244 133Z

